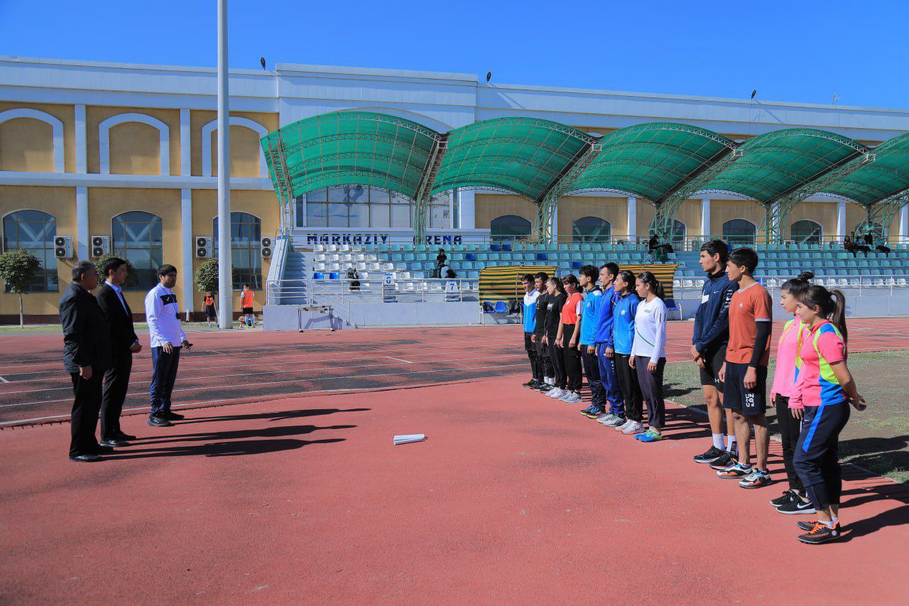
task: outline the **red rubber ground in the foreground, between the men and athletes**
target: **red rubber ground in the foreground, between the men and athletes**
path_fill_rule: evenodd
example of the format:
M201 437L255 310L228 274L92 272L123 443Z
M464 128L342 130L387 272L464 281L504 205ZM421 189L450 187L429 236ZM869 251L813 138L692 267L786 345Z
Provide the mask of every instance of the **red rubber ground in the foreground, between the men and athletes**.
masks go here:
M514 377L273 399L126 418L91 465L66 425L2 431L0 602L909 601L902 485L847 468L844 540L807 546L781 483L691 460L693 411L643 444L579 408Z

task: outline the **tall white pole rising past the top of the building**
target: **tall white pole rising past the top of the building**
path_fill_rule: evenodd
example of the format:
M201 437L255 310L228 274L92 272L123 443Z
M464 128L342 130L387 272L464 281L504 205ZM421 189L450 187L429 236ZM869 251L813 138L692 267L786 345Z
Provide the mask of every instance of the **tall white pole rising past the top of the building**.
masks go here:
M218 326L234 326L230 248L230 154L227 102L227 0L218 0Z

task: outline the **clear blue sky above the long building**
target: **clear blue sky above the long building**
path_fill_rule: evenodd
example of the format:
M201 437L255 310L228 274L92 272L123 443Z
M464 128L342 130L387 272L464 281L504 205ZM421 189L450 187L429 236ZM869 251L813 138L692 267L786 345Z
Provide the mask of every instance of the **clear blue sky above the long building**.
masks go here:
M909 108L904 0L230 0L230 65ZM0 54L215 66L215 0L0 0Z

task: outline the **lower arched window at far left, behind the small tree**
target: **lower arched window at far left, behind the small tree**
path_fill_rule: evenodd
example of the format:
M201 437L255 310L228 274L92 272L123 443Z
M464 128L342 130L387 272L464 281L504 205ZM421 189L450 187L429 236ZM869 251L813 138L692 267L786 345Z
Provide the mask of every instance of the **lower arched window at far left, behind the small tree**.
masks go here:
M56 219L40 210L17 210L3 217L3 249L26 250L41 260L30 292L54 292L57 288L54 238Z

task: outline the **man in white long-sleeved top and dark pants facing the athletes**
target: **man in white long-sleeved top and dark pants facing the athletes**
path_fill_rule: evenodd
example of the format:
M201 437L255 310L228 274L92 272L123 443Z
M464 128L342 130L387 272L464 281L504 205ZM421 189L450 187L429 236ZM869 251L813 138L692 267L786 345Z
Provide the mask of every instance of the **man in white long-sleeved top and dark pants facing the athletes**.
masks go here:
M180 349L188 351L193 345L186 340L180 326L180 308L172 290L175 284L176 268L162 265L158 268L157 286L145 295L145 320L152 348L152 384L148 389L152 405L148 424L152 427L170 427L172 420L184 418L171 411L171 392L180 364Z

